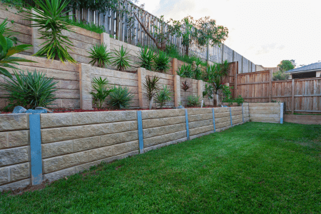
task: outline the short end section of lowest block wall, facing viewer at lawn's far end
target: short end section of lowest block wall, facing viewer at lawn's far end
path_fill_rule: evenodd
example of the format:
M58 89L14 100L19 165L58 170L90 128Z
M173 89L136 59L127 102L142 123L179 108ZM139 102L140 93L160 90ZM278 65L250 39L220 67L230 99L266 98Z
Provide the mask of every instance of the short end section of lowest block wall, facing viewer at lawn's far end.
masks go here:
M250 120L254 122L280 123L281 103L248 103Z

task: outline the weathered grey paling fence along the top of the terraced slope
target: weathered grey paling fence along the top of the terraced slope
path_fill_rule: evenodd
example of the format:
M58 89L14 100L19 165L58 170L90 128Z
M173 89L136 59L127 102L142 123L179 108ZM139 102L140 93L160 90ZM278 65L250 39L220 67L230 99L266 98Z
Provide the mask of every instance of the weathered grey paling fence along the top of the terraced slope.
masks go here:
M123 7L128 11L123 16L120 12L114 12L111 9L106 8L106 13L99 13L98 11L91 11L88 9L73 10L69 15L76 16L77 21L86 21L88 23L96 24L97 26L103 26L107 34L110 34L112 38L124 41L134 46L156 46L153 40L146 34L138 20L134 16L136 14L138 19L146 26L146 29L151 34L158 33L159 31L167 31L168 28L162 28L161 21L158 17L140 9L135 4L123 1ZM157 29L154 27L157 26ZM184 27L181 27L181 31L184 31ZM180 54L185 54L186 47L182 44L183 37L174 35L170 36L169 43L178 47ZM201 49L196 45L196 41L192 41L189 46L189 54L205 59L207 56L207 49L203 47ZM255 63L248 61L237 52L230 49L224 44L210 46L209 49L209 61L222 63L228 60L240 61L239 71L241 73L256 71Z

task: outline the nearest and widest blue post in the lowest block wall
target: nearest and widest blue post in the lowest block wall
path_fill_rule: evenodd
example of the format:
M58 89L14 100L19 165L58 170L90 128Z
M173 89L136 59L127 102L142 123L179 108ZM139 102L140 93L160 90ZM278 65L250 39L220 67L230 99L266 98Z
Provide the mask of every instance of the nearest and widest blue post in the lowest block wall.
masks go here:
M29 115L31 183L42 183L41 131L40 114Z

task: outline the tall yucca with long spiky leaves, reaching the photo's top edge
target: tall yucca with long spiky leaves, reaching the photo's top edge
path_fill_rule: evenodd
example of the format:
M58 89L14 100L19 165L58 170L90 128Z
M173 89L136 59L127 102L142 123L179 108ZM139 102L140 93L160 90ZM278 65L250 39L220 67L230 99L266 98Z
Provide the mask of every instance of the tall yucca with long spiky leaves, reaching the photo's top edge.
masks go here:
M68 61L76 63L68 50L73 46L68 36L64 36L62 31L71 31L71 24L68 21L70 15L66 10L70 1L63 0L34 0L34 3L39 6L33 10L36 13L28 11L29 15L26 20L33 21L32 27L39 28L39 39L46 41L41 44L41 49L34 56L46 56L47 58L58 58L62 62Z

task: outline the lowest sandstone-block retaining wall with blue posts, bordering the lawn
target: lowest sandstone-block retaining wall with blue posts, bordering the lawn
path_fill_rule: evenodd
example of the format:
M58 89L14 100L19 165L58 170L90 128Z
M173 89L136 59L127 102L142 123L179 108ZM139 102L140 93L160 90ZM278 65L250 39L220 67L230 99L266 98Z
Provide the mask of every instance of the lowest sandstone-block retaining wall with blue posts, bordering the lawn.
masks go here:
M282 123L282 103L0 115L0 191L58 180L101 161L137 155L250 120Z

